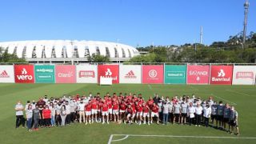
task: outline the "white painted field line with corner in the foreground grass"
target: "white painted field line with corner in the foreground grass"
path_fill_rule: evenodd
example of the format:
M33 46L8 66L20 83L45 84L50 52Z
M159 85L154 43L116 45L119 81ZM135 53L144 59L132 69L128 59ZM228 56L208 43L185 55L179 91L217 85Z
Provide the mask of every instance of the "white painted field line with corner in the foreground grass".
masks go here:
M124 138L112 140L114 136L125 136ZM227 139L256 139L256 137L216 137L216 136L188 136L188 135L141 135L141 134L111 134L108 144L123 141L128 137L158 137L158 138L227 138Z

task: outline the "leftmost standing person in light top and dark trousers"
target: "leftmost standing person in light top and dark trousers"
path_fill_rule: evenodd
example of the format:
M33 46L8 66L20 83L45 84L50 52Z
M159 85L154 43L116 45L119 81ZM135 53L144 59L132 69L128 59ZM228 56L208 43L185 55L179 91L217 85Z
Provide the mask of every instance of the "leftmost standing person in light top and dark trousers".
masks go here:
M25 127L25 118L23 116L24 106L21 101L17 102L14 110L16 111L16 128L22 124L22 127Z

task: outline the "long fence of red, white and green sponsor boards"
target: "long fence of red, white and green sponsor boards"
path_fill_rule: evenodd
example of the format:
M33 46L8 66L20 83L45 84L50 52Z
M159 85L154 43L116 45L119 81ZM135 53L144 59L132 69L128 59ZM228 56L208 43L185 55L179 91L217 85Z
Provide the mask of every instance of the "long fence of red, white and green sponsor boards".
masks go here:
M231 63L75 63L0 65L6 83L113 83L255 85L256 64Z

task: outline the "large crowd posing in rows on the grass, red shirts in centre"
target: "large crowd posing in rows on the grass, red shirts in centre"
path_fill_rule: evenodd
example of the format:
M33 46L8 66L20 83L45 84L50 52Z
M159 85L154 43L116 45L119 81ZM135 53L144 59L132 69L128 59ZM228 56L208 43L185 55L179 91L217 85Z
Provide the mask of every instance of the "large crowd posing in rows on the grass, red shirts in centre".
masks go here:
M195 95L178 98L154 94L145 100L142 94L113 94L106 93L102 98L100 94L79 96L66 96L62 98L39 98L38 102L27 101L24 107L19 101L15 106L16 128L22 125L28 130L38 130L39 127L66 126L73 122L91 124L102 122L136 123L150 125L153 122L162 125L188 124L194 126L211 126L226 130L230 134L239 134L238 112L234 106L225 105L222 101L214 102L195 98ZM23 116L26 112L26 119ZM209 122L211 120L211 122ZM210 124L209 124L210 123ZM33 129L32 129L33 128Z

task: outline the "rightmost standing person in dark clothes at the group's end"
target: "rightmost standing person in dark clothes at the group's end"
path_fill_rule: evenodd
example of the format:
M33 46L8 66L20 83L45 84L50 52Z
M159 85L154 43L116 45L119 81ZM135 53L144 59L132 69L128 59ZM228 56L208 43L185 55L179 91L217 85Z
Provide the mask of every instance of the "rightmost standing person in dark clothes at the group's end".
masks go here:
M238 111L234 110L234 106L231 106L230 110L230 134L234 133L234 127L237 130L237 135L239 135L239 129L238 129Z

